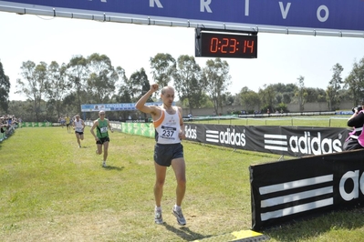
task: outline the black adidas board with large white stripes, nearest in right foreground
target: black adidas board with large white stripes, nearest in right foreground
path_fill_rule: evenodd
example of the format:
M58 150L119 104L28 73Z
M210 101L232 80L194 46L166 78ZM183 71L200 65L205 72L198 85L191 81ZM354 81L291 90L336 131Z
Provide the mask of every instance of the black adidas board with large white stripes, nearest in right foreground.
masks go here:
M250 166L252 228L362 207L364 150Z

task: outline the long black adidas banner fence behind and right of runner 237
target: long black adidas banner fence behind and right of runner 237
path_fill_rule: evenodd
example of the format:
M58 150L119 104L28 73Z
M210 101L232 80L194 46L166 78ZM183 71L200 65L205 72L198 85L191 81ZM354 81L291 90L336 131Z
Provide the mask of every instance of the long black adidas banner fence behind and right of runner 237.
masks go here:
M185 123L186 139L282 156L341 152L348 128L308 126L224 126Z

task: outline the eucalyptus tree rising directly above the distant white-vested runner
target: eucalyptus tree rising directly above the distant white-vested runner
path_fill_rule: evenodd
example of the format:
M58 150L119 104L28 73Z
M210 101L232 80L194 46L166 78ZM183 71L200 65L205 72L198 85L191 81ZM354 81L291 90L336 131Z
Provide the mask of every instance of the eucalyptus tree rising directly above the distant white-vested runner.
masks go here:
M82 102L88 103L88 99L86 99L85 96L83 95L86 92L86 86L87 86L87 81L86 81L88 77L87 59L82 55L74 55L69 60L66 74L72 86L68 96L74 96L78 112L80 112ZM66 99L67 98L65 98L64 101L66 101Z

